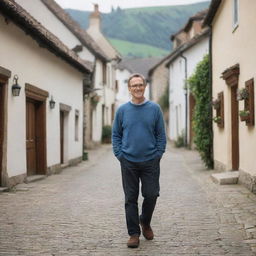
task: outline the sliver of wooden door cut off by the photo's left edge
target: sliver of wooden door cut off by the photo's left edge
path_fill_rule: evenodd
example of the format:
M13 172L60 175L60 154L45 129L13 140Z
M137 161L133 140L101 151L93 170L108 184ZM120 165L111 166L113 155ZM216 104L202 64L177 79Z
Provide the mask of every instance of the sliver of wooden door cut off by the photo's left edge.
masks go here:
M3 138L4 138L4 84L0 83L0 186L2 184Z

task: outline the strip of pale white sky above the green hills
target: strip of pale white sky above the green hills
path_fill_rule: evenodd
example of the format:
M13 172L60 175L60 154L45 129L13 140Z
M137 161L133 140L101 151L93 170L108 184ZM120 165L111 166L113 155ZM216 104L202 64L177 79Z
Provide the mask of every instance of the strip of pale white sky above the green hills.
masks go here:
M207 0L55 0L62 8L92 11L93 4L100 12L110 12L111 7L122 9L145 6L180 5L205 2Z

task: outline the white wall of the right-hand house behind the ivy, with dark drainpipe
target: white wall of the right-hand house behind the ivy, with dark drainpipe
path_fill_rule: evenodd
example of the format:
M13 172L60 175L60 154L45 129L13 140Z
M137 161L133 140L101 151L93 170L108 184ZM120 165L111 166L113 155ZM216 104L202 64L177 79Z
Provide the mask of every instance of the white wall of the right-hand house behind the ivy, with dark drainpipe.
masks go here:
M209 52L209 39L204 38L194 46L183 52L187 58L187 78L196 69L197 64ZM169 138L177 140L185 133L185 60L176 58L169 67ZM187 97L189 96L189 91ZM187 141L189 141L189 98L187 101Z

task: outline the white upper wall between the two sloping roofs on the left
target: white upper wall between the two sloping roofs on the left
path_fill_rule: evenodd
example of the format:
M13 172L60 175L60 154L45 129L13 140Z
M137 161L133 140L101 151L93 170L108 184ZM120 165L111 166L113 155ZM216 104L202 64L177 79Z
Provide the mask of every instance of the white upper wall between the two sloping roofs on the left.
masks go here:
M40 0L16 0L16 2L70 49L73 49L76 45L81 45L78 38ZM86 47L83 47L83 50L78 55L92 62L95 59L94 55Z

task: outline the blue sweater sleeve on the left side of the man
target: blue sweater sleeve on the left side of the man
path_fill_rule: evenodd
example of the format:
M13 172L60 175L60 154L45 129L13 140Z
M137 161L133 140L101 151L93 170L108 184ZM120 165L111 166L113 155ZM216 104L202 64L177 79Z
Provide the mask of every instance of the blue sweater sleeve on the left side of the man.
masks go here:
M113 152L114 155L120 159L122 155L122 137L123 137L123 130L122 130L122 113L121 110L118 109L114 122L113 122L113 127L112 127L112 147L113 147Z

